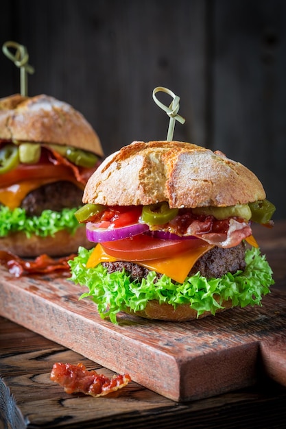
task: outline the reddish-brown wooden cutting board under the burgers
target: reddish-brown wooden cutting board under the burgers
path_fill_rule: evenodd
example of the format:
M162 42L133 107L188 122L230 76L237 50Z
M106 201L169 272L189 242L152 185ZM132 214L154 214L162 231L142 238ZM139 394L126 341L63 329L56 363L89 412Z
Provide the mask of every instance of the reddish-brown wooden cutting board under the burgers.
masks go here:
M116 326L62 277L14 278L0 267L0 279L1 316L171 400L241 389L265 373L286 386L286 295L275 289L262 307L183 323L120 313Z

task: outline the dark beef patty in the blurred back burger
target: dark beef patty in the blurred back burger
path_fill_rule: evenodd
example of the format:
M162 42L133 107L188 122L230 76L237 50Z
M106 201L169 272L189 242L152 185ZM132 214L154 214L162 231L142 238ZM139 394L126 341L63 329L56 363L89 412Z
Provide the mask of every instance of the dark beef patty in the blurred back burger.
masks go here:
M40 216L43 210L60 212L63 208L82 206L83 191L71 182L52 182L28 193L21 203L27 216Z

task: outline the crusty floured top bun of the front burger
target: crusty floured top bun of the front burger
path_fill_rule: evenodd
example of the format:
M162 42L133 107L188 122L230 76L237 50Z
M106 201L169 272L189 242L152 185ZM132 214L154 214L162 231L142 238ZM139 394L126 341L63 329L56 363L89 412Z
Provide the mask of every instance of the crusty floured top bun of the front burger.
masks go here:
M265 199L254 173L222 152L177 141L133 142L89 178L83 202L170 208L235 206Z

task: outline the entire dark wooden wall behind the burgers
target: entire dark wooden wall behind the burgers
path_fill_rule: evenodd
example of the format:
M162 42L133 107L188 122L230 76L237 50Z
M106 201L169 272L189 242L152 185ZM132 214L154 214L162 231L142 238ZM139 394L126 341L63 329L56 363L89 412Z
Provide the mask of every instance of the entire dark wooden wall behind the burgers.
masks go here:
M132 140L165 140L169 120L152 90L167 86L186 118L174 139L252 169L281 219L285 25L284 0L2 0L0 43L27 47L29 95L80 110L106 155ZM19 70L2 53L0 73L0 97L19 92Z

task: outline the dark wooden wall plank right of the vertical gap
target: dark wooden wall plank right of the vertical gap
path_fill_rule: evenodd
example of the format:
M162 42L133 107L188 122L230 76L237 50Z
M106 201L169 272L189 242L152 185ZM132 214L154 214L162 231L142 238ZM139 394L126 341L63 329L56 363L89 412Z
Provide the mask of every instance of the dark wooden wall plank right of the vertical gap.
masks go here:
M217 1L213 16L213 145L259 175L285 219L286 3Z

